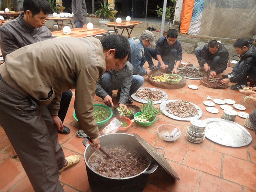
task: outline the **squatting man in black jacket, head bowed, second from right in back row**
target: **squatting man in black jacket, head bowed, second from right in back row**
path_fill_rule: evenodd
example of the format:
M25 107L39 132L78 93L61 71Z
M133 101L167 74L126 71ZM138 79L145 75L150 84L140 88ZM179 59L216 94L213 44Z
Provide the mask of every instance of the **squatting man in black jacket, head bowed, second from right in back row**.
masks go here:
M199 69L211 70L210 77L222 73L228 66L228 50L216 40L211 40L204 48L195 49Z

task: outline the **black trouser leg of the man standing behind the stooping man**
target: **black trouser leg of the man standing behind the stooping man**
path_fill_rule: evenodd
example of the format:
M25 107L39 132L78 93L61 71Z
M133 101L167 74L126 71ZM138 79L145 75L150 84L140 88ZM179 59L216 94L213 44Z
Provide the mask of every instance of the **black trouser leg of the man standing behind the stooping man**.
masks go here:
M61 95L61 100L60 100L60 110L58 112L58 117L64 122L64 119L66 117L66 114L68 112L68 107L70 104L70 101L72 99L72 92L71 90L67 90Z

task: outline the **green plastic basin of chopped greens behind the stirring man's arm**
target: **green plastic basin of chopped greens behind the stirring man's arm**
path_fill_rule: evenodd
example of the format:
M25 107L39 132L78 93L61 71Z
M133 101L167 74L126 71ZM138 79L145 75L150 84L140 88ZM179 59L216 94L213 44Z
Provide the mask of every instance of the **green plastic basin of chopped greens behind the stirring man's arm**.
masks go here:
M93 104L93 108L94 118L98 124L98 127L106 125L112 118L113 112L108 106L102 104ZM76 118L76 111L73 112L73 117L78 122L78 119Z

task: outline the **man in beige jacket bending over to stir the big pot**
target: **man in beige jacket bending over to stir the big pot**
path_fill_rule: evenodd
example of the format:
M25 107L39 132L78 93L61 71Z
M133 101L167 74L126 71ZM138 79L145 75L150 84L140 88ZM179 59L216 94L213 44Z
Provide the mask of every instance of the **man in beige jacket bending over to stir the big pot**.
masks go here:
M0 65L0 124L36 192L63 192L59 171L79 161L79 156L65 159L58 142L61 93L76 89L76 116L97 150L93 103L98 78L129 56L130 45L121 35L102 42L93 37L50 39L6 56Z

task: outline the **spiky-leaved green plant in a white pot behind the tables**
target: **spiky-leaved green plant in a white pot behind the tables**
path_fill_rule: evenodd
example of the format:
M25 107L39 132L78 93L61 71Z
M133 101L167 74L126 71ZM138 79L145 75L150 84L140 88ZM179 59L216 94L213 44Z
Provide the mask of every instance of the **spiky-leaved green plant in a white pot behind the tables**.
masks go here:
M99 18L100 26L106 26L105 23L110 22L110 19L114 19L113 12L115 10L112 8L108 8L111 3L107 3L106 1L104 1L104 4L102 4L101 2L99 3L100 5L98 6L99 8L96 8L95 16Z

